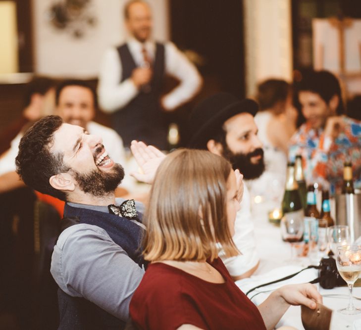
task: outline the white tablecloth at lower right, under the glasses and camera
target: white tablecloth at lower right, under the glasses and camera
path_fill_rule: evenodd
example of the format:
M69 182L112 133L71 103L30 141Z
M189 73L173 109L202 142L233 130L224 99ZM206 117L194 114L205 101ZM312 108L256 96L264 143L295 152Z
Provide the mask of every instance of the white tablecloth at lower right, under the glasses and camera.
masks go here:
M257 278L264 278L265 274L268 274L268 277L276 276L274 274L272 275L271 272L272 270L273 272L277 272L277 270L276 271L274 270L279 267L289 266L287 265L286 260L289 259L291 256L291 247L288 243L282 241L280 228L268 222L267 212L266 212L267 210L268 209L266 205L259 205L259 207L257 205L254 205L253 215L254 215L255 233L257 239L257 248L260 256L260 263L254 276L252 276L251 279L248 281L257 280ZM309 261L306 259L304 262L306 266L310 264ZM284 270L284 268L282 268L281 273L283 274L280 274L279 278L282 278L288 274L292 274L294 273L294 271L297 271L297 267L296 269L295 268L288 269L288 273L287 271ZM296 279L291 280L291 283L297 283L297 281L299 281L298 283L309 282L312 278L317 277L316 270L308 270L305 272L309 272L309 273L307 275L300 274L300 276L298 276ZM273 281L275 278L265 279L264 282ZM245 280L237 281L237 284L239 284L240 287L244 287ZM254 286L249 285L250 288ZM264 291L266 289L271 289L271 288L274 289L275 287L265 287L263 290L259 289L259 291L261 290ZM337 287L331 290L326 290L318 285L318 289L322 295L348 294L348 288L346 286ZM255 293L257 292L258 291L255 291ZM253 298L253 301L256 304L260 303L269 295L270 292L271 291L265 293L259 293L256 297ZM361 287L354 288L354 295L356 297L361 297ZM249 297L252 296L253 294L251 293ZM331 328L330 328L331 330L361 330L361 314L358 314L356 316L347 316L337 312L338 309L347 306L348 304L347 296L324 297L323 304L333 310ZM354 299L354 304L356 307L361 308L361 300ZM357 326L356 324L359 325ZM282 317L279 324L277 325L277 327L280 326L292 326L299 330L304 329L301 322L301 307L291 306L288 309L288 311L285 313L285 315Z

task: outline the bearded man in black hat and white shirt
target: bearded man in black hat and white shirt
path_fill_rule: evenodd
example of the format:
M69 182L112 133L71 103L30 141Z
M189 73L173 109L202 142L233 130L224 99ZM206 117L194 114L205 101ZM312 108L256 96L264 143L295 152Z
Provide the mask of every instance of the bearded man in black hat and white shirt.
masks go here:
M228 93L206 98L191 114L189 147L207 149L223 156L232 163L233 169L240 170L245 180L258 178L264 170L264 161L254 121L257 110L255 101L239 100ZM222 259L232 277L239 280L251 276L259 263L250 194L246 186L241 209L237 213L235 232L233 240L242 254Z

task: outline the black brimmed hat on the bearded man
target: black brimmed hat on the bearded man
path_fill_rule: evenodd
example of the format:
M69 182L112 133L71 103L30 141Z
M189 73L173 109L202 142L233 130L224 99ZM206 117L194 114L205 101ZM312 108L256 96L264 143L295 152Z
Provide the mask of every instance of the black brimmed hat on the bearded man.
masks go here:
M242 112L254 116L258 111L256 101L239 100L229 93L214 94L198 103L189 120L191 133L189 147L205 149L207 141L214 138L223 123Z

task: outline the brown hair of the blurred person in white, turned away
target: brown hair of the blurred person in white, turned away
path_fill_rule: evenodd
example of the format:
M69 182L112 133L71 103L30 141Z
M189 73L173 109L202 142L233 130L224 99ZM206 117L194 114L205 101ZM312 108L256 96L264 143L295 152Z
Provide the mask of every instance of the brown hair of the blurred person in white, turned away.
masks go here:
M272 108L278 101L285 101L291 91L290 85L281 79L267 79L258 85L256 95L260 110Z

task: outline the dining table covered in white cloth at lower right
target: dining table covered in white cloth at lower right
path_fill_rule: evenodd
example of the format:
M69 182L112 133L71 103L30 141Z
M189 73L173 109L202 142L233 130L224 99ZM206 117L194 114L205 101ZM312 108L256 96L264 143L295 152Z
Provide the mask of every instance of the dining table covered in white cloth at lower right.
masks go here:
M310 260L309 257L302 257L297 259L295 265L290 262L290 243L282 240L279 225L270 223L268 220L268 211L271 207L272 205L267 203L252 205L252 219L260 261L258 269L251 278L236 282L244 292L259 284L269 283L296 273L309 265L317 265L319 261ZM282 285L308 283L317 277L317 269L308 269L287 281L260 287L252 291L248 297L255 304L260 304L274 289ZM350 316L337 312L338 309L344 308L348 304L349 290L346 285L332 289L324 289L319 283L315 285L323 297L323 305L333 311L330 330L361 330L361 314ZM358 287L357 283L354 287L354 305L361 308L361 287ZM291 326L298 330L305 329L301 319L301 307L290 306L277 324L276 329L281 326Z

